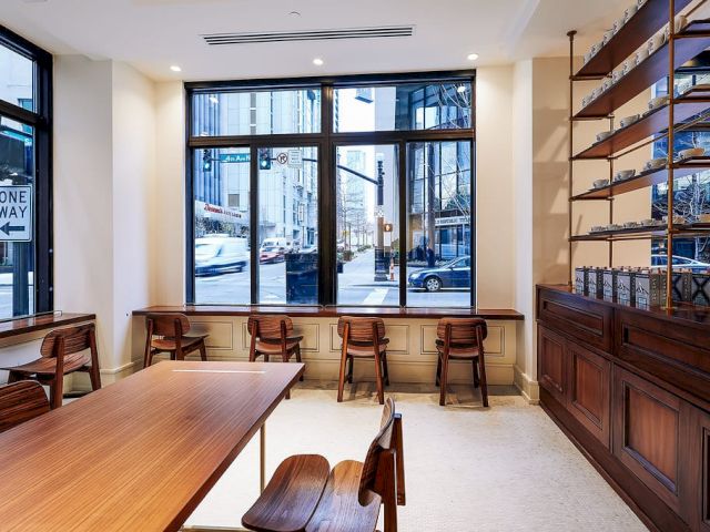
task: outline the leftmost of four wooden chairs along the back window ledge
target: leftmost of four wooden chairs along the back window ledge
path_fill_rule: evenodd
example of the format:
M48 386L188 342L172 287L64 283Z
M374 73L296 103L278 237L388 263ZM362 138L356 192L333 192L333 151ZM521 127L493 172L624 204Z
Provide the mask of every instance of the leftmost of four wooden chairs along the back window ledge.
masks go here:
M184 360L185 355L199 349L200 358L207 359L204 339L209 335L187 336L190 320L184 314L149 314L145 327L144 368L153 364L153 356L159 352L170 354L171 360Z

